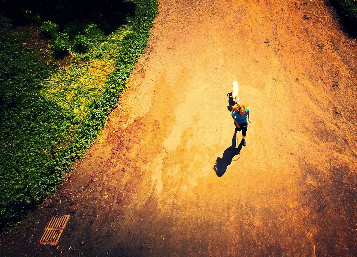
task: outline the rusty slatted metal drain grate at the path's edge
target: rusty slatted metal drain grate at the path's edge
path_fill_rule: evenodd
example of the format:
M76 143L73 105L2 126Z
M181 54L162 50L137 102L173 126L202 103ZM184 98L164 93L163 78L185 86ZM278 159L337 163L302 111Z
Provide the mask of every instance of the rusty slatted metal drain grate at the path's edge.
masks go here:
M48 222L47 226L45 227L45 231L41 237L40 243L43 245L57 245L68 220L69 214L61 217L51 217L50 222Z

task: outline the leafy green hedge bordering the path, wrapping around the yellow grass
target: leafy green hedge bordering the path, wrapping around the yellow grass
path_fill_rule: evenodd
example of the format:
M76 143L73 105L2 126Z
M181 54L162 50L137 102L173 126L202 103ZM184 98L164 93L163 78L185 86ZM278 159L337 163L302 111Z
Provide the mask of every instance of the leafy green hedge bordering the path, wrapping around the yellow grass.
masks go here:
M132 2L135 15L127 22L134 32L125 36L117 69L84 120L39 93L41 82L54 74L53 66L36 61L36 53L14 44L14 38L7 36L9 22L0 16L5 49L0 54L0 230L54 192L104 127L144 51L157 14L156 0Z

